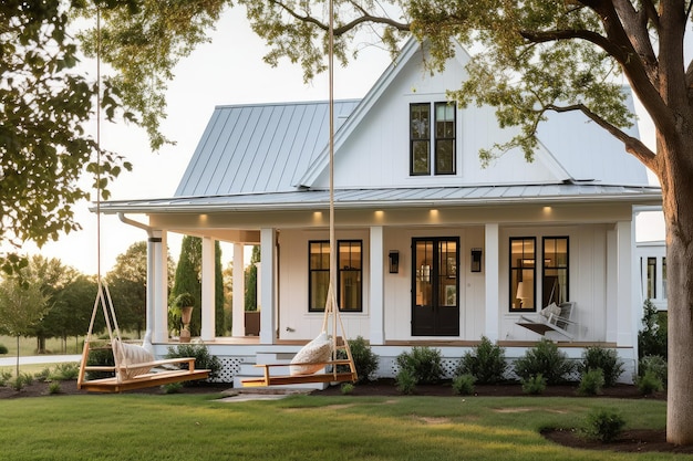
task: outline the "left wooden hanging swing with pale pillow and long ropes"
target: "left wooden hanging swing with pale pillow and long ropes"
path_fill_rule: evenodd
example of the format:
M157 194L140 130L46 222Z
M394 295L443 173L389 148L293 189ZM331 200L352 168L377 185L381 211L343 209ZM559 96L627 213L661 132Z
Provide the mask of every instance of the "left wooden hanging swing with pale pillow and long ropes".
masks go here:
M97 30L97 59L96 59L96 148L97 164L101 165L101 14L96 11ZM154 355L145 347L124 343L121 338L121 331L115 316L113 300L108 292L108 286L101 277L101 180L100 171L96 172L96 259L99 292L94 301L94 310L89 324L89 332L82 349L82 362L77 376L77 389L95 392L121 392L123 390L142 389L147 387L162 386L172 383L188 381L194 379L206 379L209 377L208 369L195 369L195 357L179 357L170 359L155 360ZM103 312L106 328L108 331L108 342L96 346L92 338L96 313ZM104 343L104 342L102 342ZM92 350L107 350L104 356L112 356L114 365L90 365L90 353ZM107 360L104 360L107 362ZM187 369L182 368L186 366ZM105 374L107 377L87 379L87 373Z

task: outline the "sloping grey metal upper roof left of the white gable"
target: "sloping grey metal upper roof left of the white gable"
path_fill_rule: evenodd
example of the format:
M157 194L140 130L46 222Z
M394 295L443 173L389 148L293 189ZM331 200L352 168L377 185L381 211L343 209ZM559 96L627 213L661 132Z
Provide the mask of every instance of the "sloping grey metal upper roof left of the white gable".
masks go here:
M335 101L335 123L359 101ZM327 101L217 106L175 197L297 190L328 144L328 114Z

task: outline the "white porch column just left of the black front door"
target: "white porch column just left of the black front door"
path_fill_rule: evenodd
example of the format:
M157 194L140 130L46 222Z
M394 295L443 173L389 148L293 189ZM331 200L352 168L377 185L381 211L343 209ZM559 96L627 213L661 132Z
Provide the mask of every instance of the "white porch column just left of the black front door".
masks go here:
M371 296L369 300L371 315L370 342L372 345L385 344L385 303L384 303L384 264L382 226L371 227Z

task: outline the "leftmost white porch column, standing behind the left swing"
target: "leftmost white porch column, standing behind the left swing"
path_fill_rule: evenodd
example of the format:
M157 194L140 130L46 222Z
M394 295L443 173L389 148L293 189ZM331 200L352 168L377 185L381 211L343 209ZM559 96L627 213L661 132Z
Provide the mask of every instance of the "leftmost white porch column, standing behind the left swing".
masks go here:
M153 230L147 239L147 304L146 333L143 346L168 340L168 255L166 232Z

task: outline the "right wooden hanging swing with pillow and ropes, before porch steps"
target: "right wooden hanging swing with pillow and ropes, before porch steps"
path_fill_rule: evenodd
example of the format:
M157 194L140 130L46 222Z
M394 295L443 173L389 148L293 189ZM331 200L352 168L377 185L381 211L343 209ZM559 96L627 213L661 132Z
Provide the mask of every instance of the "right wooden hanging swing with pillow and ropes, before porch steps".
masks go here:
M244 387L286 386L312 383L356 381L356 367L346 340L344 325L339 313L334 285L337 281L337 249L334 239L334 25L333 4L330 0L329 73L330 73L330 284L324 306L322 333L298 352L290 364L260 364L260 378L241 380ZM343 350L346 358L339 358ZM289 366L289 374L286 367ZM283 374L277 374L285 368ZM348 369L348 370L346 370ZM272 374L272 371L275 374Z

